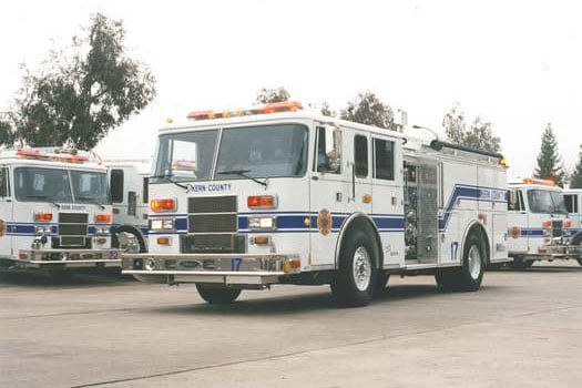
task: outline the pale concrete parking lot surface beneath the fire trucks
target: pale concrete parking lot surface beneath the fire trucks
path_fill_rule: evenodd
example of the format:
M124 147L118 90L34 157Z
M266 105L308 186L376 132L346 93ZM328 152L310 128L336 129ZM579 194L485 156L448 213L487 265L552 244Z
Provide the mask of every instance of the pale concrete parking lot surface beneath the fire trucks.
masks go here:
M243 292L81 275L0 280L0 387L580 387L582 267L486 274L477 293L390 278L368 307L328 287Z

